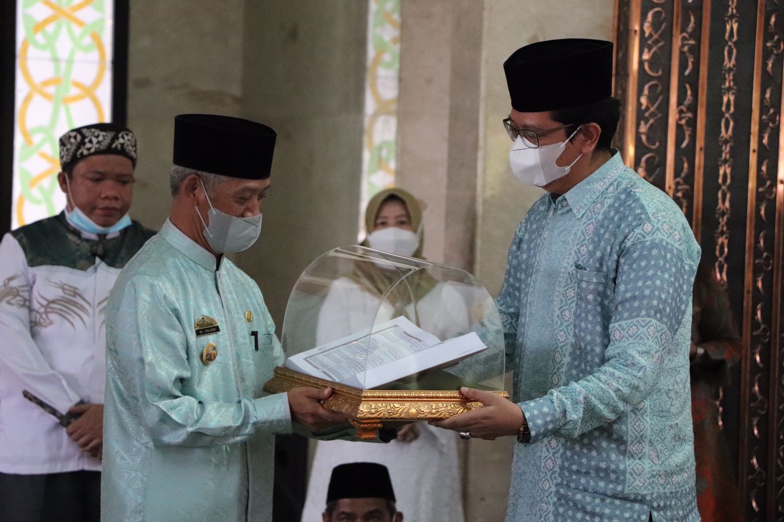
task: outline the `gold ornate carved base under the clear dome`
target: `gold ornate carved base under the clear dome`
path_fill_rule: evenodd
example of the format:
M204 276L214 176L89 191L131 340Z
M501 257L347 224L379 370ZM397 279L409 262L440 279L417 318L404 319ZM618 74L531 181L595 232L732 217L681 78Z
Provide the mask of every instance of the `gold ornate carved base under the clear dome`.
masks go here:
M274 377L264 385L267 393L282 393L298 386L332 388L332 396L323 402L325 408L346 415L357 429L357 438L372 440L376 430L412 421L448 419L481 407L456 390L361 390L318 377L311 377L278 366ZM504 391L494 391L509 397Z

